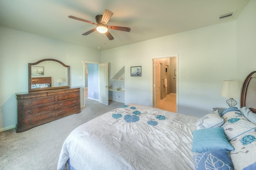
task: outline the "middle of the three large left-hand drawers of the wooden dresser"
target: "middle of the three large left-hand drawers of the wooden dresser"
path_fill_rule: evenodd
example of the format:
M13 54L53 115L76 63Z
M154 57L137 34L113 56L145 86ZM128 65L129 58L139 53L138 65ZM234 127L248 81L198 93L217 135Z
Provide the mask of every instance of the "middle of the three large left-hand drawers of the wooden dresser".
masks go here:
M54 111L55 109L56 109L55 104L49 104L49 105L40 106L40 107L32 107L32 108L23 110L23 117L38 115L42 112Z

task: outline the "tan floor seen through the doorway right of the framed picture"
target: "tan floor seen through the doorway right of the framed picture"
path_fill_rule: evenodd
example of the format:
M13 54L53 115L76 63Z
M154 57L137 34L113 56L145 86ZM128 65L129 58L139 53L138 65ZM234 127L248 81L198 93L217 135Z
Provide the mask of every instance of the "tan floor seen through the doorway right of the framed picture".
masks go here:
M176 113L176 94L170 93L166 96L166 98L160 100L158 108Z

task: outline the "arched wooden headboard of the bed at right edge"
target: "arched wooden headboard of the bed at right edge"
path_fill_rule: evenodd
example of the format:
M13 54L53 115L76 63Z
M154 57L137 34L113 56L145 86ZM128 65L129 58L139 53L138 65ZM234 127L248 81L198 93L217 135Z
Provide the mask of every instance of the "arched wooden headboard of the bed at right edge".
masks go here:
M244 80L241 92L241 108L244 106L256 113L256 71L251 72Z

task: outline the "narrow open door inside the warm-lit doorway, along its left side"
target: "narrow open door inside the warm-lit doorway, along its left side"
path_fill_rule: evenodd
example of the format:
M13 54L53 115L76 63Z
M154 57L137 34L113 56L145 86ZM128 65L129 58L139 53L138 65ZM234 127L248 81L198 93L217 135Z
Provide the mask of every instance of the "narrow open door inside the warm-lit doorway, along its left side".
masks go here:
M155 107L159 108L160 96L161 96L161 78L160 78L160 62L154 60L154 96Z

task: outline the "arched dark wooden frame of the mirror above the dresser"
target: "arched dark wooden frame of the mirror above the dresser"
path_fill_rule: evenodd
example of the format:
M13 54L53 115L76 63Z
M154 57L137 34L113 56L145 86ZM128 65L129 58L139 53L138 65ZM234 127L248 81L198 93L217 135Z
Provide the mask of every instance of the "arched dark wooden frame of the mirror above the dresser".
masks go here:
M55 86L55 87L46 87L46 88L31 88L32 84L32 77L31 77L31 66L34 66L36 64L42 63L44 61L55 61L57 63L62 64L62 66L68 68L68 86ZM70 66L65 65L61 61L55 60L55 59L42 59L40 61L37 61L36 63L28 63L28 92L34 92L34 91L42 91L42 90L54 90L54 89L63 89L63 88L70 88Z

